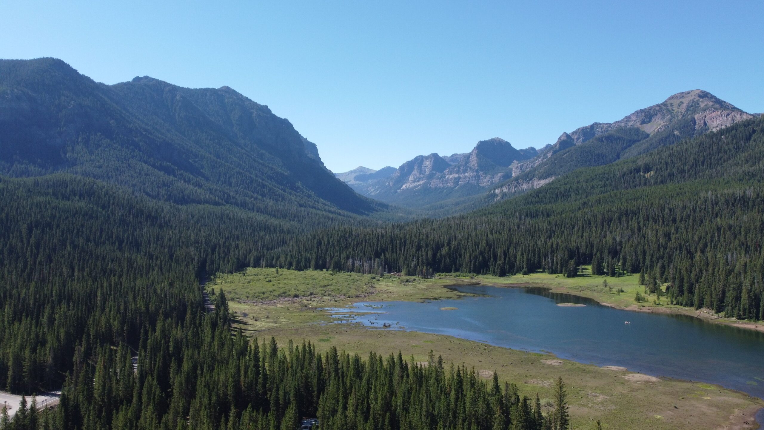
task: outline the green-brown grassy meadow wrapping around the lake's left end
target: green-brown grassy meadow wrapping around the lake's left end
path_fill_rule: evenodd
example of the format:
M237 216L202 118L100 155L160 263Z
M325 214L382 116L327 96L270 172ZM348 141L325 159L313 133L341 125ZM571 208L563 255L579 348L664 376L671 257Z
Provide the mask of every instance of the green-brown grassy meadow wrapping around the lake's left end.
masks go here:
M568 384L573 426L594 429L600 419L603 428L746 428L753 413L764 406L761 399L703 383L652 378L625 369L600 368L558 360L549 354L494 347L472 340L414 331L390 331L356 324L328 324L326 308L339 308L356 301L430 301L458 298L459 293L444 288L457 283L481 282L491 285L528 284L571 292L620 307L637 304L634 293L643 287L638 276L607 278L613 292L602 287L602 276L563 278L533 274L492 278L477 275L439 276L436 279L395 275L296 272L280 269L247 269L216 276L208 288L222 288L229 298L235 326L261 340L275 337L309 341L319 350L337 347L365 357L369 351L403 353L417 362L426 362L429 351L442 355L445 363L466 363L481 376L496 371L500 380L516 383L524 395L539 393L542 404L552 397L553 381L562 376ZM270 280L270 282L269 282ZM618 295L616 288L625 292ZM663 305L665 306L665 305ZM373 310L371 310L373 311ZM447 309L443 311L448 312ZM744 415L743 415L744 414Z

